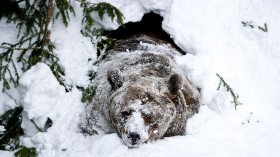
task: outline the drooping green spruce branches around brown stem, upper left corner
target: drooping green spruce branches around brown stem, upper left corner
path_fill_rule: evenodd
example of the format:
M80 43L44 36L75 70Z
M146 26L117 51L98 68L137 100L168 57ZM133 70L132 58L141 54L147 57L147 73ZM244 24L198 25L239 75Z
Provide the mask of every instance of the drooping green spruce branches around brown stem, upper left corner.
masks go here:
M10 19L8 17L9 21L17 23L18 42L15 44L4 42L0 45L0 50L4 51L0 53L0 80L3 80L2 92L10 89L10 83L13 83L14 87L18 85L19 75L15 66L16 61L22 64L23 71L28 70L38 62L45 62L50 66L59 82L65 86L62 79L62 75L64 75L63 68L58 64L59 60L53 52L55 46L50 41L51 31L49 30L49 25L54 19L55 1L24 1L26 7L21 14L12 16ZM66 14L69 8L72 8L68 0L56 2L57 6L60 7L59 12L63 12L62 14ZM66 22L68 20L69 18ZM14 55L17 56L16 61L13 59ZM13 75L13 73L15 74Z

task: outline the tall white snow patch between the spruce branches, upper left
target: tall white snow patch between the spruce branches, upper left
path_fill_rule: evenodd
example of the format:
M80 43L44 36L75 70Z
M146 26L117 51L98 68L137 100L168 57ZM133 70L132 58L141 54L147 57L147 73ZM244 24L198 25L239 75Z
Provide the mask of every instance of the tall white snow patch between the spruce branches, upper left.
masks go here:
M70 14L68 27L60 22L54 24L51 40L56 45L55 53L59 63L65 70L67 85L84 87L89 84L88 71L92 70L93 61L96 60L96 48L89 38L80 33L82 29L82 12L78 3L73 3L76 16ZM91 60L91 61L89 61Z

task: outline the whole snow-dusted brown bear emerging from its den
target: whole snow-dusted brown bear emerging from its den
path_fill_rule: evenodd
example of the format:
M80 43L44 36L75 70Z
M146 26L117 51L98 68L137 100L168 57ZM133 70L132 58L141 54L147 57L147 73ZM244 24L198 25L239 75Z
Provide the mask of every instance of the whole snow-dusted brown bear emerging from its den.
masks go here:
M147 37L116 45L97 72L95 124L129 147L183 135L187 119L198 113L200 94L176 65L176 50ZM124 51L129 48L133 52Z

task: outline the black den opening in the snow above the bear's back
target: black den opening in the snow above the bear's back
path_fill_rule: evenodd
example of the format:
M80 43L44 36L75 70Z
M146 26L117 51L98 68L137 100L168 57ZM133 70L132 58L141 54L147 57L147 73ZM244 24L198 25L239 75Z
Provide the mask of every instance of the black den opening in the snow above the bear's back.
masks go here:
M163 17L151 12L145 14L140 22L128 22L125 24L125 27L119 27L117 30L106 33L115 39L128 39L134 35L144 34L170 43L180 53L186 54L174 43L170 35L161 28L162 21Z

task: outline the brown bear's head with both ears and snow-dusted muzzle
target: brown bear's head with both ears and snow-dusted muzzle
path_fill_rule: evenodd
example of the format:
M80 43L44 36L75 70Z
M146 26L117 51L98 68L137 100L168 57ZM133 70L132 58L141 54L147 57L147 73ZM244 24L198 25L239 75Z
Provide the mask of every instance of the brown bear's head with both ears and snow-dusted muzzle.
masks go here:
M167 84L157 82L157 87L152 79L127 83L119 69L108 71L107 76L112 87L107 111L113 128L124 143L129 147L138 147L162 138L176 116L176 105L168 93L174 94L182 88L182 78L173 74Z

